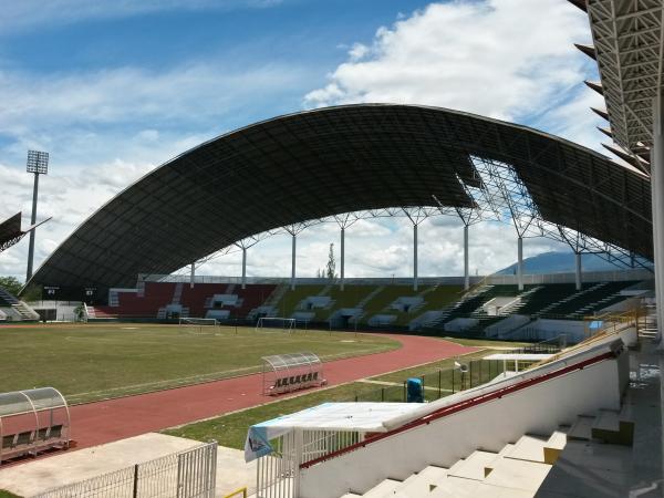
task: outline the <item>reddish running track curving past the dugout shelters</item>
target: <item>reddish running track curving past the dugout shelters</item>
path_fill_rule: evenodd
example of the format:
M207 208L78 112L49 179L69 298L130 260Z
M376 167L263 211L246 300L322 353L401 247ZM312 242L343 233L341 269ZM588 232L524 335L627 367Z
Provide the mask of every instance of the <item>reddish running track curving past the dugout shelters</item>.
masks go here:
M382 334L402 343L386 353L324 364L329 385L356 381L475 351L440 339ZM121 397L71 407L79 448L111 443L266 403L260 374ZM300 392L302 393L302 392ZM288 396L281 396L284 398ZM269 400L273 401L273 400Z

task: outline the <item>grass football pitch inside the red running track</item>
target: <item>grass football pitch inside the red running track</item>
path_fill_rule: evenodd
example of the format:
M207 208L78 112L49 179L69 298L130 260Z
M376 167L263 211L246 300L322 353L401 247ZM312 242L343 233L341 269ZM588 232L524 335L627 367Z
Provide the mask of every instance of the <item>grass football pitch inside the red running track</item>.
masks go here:
M323 361L388 351L396 341L345 332L154 324L0 326L0 392L53 386L70 403L261 371L261 356Z

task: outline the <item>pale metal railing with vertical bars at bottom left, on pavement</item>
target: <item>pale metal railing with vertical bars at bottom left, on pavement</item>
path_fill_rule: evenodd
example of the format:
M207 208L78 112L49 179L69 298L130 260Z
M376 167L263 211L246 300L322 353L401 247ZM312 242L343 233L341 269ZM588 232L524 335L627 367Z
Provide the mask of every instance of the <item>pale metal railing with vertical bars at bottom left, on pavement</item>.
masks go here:
M136 464L33 498L214 498L217 442Z

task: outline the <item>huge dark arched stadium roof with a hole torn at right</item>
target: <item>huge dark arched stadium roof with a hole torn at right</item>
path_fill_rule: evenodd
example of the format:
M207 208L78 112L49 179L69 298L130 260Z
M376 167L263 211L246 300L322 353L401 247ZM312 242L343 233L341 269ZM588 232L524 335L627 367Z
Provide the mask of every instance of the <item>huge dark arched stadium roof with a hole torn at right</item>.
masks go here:
M650 183L561 138L477 115L360 104L276 117L195 147L81 225L32 282L127 287L277 227L364 209L469 206L469 155L511 164L542 217L652 255Z

